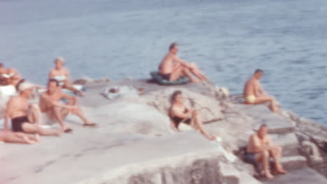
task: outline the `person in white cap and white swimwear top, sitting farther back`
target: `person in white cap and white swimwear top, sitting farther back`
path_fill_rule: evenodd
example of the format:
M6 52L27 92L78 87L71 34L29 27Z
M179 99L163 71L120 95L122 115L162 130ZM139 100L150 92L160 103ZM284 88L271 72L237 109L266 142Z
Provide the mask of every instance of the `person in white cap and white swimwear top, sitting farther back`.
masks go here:
M61 88L73 91L75 94L83 96L82 91L75 89L70 82L69 72L64 68L64 59L58 57L54 60L55 68L53 68L49 73L49 79L56 79L59 81Z

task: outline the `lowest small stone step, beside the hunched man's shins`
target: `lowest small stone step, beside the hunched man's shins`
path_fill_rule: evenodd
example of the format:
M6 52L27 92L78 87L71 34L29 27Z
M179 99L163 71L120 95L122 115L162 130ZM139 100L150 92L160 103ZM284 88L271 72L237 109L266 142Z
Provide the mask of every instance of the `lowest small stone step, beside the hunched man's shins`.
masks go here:
M307 159L303 156L283 157L280 162L286 171L307 167Z

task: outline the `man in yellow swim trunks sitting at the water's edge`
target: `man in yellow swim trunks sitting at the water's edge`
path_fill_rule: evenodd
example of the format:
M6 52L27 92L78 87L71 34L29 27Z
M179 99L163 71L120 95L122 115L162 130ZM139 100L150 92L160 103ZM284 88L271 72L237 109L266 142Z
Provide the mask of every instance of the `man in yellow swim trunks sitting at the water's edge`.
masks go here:
M257 69L254 75L247 80L244 88L244 98L247 104L261 104L270 102L270 110L272 112L277 111L277 102L275 98L268 95L263 90L259 79L263 76L263 70Z

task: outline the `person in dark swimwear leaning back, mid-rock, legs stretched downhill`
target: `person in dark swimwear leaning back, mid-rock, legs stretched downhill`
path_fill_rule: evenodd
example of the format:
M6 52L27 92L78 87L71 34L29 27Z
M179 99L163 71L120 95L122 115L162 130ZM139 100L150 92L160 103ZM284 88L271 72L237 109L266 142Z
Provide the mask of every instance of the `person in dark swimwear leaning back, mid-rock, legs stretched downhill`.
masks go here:
M182 91L175 91L171 96L172 105L169 109L169 116L173 121L173 127L178 129L178 125L180 123L187 123L191 125L191 127L200 130L201 134L210 140L215 140L216 137L214 135L208 135L203 128L203 123L201 121L201 116L196 111L196 109L188 109L185 107L184 98L182 95Z

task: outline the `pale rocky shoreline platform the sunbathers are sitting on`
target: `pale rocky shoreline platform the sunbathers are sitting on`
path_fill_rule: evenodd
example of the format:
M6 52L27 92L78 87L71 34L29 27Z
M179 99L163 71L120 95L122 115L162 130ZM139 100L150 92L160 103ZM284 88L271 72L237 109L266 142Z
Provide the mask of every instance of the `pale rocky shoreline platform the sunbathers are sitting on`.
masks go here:
M210 84L160 86L143 79L79 79L85 97L79 103L98 128L85 128L68 116L73 133L43 137L40 144L1 144L0 183L69 184L259 184L327 183L327 128L282 109L244 105ZM131 89L108 99L110 88ZM142 92L142 94L131 91ZM187 105L201 109L205 130L170 128L170 94L181 90ZM282 146L288 174L261 178L257 167L242 160L242 148L266 123L273 142ZM224 148L223 150L221 148ZM234 154L234 162L224 151ZM326 151L326 150L325 150Z

